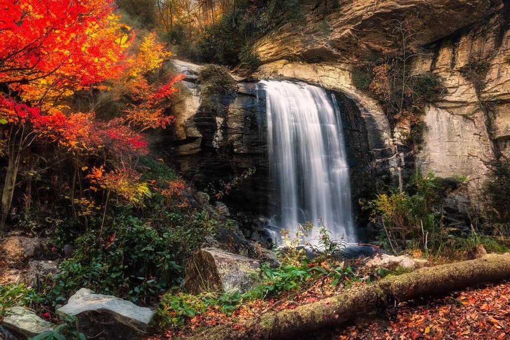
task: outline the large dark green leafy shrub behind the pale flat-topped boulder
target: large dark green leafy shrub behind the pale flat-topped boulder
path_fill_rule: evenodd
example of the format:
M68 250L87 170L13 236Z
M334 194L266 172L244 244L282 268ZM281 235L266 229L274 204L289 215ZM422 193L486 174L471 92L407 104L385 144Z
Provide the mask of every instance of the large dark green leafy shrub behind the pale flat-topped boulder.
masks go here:
M72 257L60 266L51 291L54 303L81 287L138 302L179 281L172 234L138 218L120 215L109 226L90 229L75 245Z

